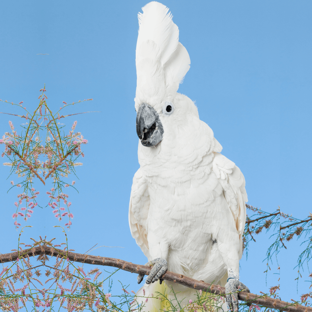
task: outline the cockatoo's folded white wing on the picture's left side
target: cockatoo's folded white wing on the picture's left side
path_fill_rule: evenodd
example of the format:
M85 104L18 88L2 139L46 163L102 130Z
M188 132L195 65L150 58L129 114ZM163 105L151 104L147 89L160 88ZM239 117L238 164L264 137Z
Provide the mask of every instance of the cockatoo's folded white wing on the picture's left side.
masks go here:
M149 259L147 241L147 216L149 213L149 193L147 181L139 169L133 177L129 203L129 226L132 237Z

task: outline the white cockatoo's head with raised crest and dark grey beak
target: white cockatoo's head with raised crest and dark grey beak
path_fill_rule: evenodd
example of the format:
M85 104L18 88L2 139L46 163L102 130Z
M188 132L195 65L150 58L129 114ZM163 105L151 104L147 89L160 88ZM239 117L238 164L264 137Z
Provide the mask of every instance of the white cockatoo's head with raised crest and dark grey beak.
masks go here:
M136 131L142 144L152 147L172 135L173 128L185 126L190 113L198 113L191 100L177 93L191 61L169 9L153 1L142 10L135 59Z

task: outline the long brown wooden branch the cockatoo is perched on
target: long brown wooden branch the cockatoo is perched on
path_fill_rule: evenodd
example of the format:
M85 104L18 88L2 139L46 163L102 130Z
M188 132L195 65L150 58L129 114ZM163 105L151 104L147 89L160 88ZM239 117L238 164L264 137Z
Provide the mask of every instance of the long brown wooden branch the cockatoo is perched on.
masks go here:
M138 264L133 264L131 262L127 262L120 259L115 258L106 258L106 257L100 257L100 256L91 256L91 255L85 255L75 252L68 251L66 254L66 251L61 249L56 249L54 247L49 246L37 246L30 249L24 249L19 252L11 252L7 254L0 255L0 261L2 263L4 262L10 262L10 261L16 261L18 256L38 256L38 255L50 255L50 256L59 256L59 257L67 257L70 261L76 261L81 263L88 263L88 264L94 264L97 266L113 266L115 268L119 268L124 271L128 271L131 273L137 273L137 274L144 274L149 275L149 272L151 271L151 268L149 266L143 266ZM184 276L182 274L173 273L170 271L167 271L163 276L162 279L169 280L174 283L178 283L181 285L184 285L186 287L190 287L196 290L203 290L208 291L210 293L216 294L216 295L225 295L225 288L221 287L219 285L213 285L209 283L205 283L203 281L194 280L190 277ZM267 308L276 309L280 311L289 311L289 312L312 312L312 307L305 307L303 305L294 305L293 303L281 301L278 299L273 299L270 297L261 297L259 298L259 295L247 293L244 291L238 292L238 299L242 301L248 301L251 304L255 305L262 305Z

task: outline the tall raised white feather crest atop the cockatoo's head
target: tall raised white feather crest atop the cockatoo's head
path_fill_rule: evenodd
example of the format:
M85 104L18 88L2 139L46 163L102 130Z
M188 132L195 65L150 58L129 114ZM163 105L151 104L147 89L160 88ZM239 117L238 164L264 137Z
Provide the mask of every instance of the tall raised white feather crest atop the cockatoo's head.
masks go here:
M148 103L156 111L173 99L190 68L188 51L179 42L179 29L168 8L156 1L138 14L139 36L136 46L137 89L135 108Z

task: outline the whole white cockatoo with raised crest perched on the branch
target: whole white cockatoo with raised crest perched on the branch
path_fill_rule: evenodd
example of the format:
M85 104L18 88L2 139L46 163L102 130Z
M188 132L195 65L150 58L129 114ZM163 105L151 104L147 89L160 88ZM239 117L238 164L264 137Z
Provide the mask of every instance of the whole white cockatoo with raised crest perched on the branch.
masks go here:
M249 291L239 281L245 179L235 163L220 154L222 146L199 119L193 101L177 92L190 58L169 9L153 1L142 10L134 99L140 168L131 188L129 225L154 266L138 294L143 288L148 296L169 286L170 297L173 286L178 299L185 298L182 304L194 300L190 288L154 283L168 268L196 280L226 284L227 292L236 292L227 296L235 311L237 289ZM138 282L142 279L139 275ZM156 309L155 301L145 310Z

